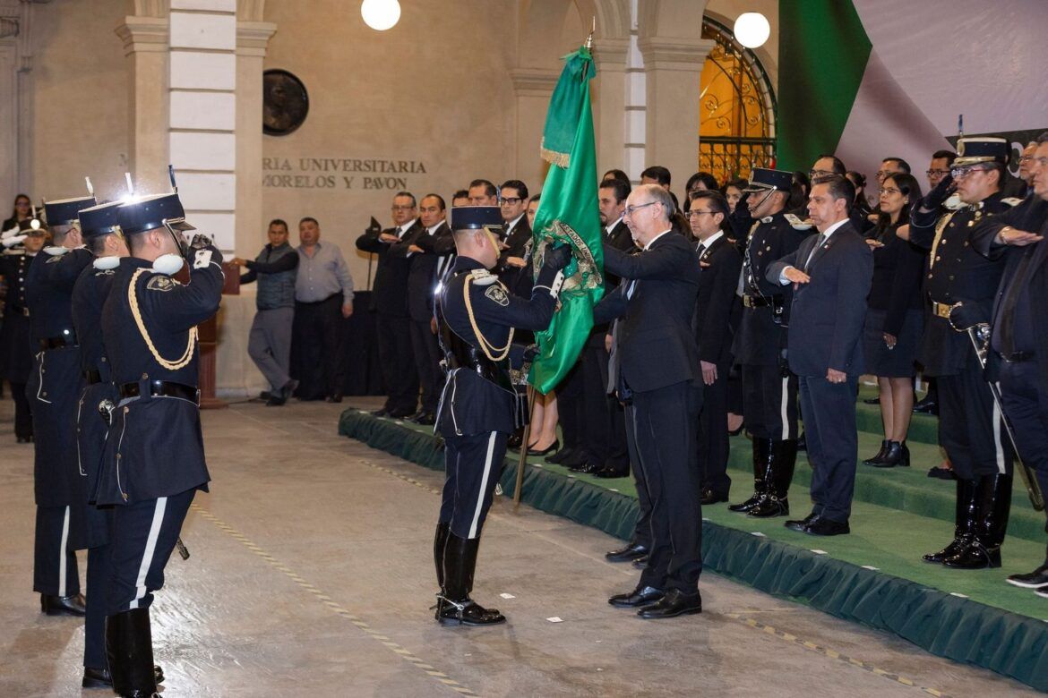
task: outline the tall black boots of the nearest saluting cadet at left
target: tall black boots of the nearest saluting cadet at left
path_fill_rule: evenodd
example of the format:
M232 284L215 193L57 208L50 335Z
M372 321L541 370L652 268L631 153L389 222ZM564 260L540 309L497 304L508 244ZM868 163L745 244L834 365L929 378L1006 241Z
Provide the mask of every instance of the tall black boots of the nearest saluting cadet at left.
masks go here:
M106 656L114 693L125 698L156 694L148 608L133 608L106 618Z

